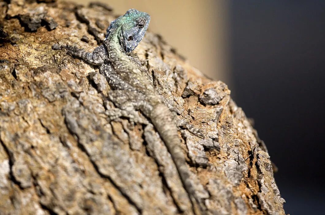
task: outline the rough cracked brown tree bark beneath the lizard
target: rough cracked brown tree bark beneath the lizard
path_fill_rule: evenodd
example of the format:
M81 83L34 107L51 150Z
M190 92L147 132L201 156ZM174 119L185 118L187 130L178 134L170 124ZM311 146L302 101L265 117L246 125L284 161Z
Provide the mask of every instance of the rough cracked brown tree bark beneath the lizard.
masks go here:
M121 117L98 68L53 50L92 51L110 7L0 2L0 214L174 214L191 203L160 136ZM147 32L135 55L175 117L193 181L210 214L284 214L268 153L221 81L205 78ZM139 122L137 119L137 122ZM190 213L190 212L189 212Z

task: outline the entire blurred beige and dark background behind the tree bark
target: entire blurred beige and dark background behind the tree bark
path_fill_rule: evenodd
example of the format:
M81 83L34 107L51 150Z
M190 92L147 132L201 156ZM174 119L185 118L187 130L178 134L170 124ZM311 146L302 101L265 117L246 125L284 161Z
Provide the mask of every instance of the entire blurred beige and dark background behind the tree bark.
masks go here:
M325 1L102 2L148 12L150 31L227 83L279 167L286 213L325 214Z

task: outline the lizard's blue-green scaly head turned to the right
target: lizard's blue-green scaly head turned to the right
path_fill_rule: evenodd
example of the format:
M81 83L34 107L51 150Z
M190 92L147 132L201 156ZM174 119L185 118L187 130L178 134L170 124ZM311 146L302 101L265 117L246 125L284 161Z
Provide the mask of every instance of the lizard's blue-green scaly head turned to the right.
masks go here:
M140 12L136 9L129 9L123 16L111 22L107 29L108 34L106 38L114 28L121 26L122 38L120 38L120 43L126 52L131 52L144 37L149 22L150 15L148 13Z

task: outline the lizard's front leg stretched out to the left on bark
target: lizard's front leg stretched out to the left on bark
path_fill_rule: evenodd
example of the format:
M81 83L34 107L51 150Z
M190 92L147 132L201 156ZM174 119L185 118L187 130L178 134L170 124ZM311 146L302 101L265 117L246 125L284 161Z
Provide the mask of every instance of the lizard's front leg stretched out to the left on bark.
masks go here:
M98 46L93 52L87 52L84 49L79 49L76 46L67 45L67 53L72 56L79 57L89 64L100 65L104 63L107 57L107 50L104 45Z

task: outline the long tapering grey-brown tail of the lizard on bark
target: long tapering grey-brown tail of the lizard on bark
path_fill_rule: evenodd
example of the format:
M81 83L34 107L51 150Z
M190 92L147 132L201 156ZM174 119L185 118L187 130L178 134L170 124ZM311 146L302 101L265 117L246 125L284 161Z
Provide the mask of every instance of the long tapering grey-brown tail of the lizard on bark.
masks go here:
M199 212L202 211L200 207L201 201L196 198L194 184L190 179L190 170L188 169L184 153L180 147L177 127L169 108L163 103L157 104L150 113L150 120L171 154L183 186L192 202L195 214L201 214L201 212Z

